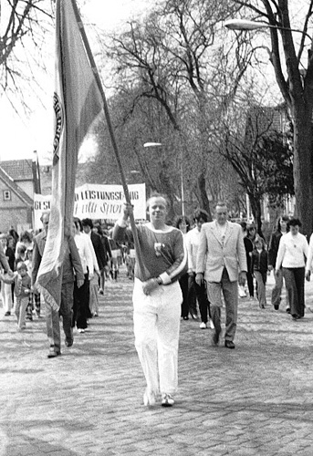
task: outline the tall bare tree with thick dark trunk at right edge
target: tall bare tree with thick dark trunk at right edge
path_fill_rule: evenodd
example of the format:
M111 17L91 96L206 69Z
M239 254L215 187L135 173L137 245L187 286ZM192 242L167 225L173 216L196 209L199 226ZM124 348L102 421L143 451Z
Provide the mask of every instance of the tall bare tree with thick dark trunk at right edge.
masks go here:
M302 8L298 8L303 14L302 20L294 23L291 18L296 21L296 16L292 14L291 2L286 0L233 1L241 6L242 15L250 13L251 19L264 20L271 26L267 31L271 43L270 61L293 126L297 216L303 232L308 235L313 231L313 41L312 36L308 36L313 0L302 2ZM241 40L243 35L246 36L246 32L237 34Z

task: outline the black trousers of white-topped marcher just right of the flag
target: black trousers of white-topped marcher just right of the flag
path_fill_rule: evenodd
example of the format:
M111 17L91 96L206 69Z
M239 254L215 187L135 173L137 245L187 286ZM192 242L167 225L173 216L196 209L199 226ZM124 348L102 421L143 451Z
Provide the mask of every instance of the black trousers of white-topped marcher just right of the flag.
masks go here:
M87 319L89 318L89 274L85 274L84 285L78 288L77 281L74 283L74 306L72 326L79 329L87 328Z

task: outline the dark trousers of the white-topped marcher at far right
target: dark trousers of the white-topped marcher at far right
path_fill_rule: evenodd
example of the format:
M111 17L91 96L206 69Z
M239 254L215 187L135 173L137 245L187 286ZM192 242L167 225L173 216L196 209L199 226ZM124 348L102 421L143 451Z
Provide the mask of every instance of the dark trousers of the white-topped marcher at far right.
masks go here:
M304 267L283 267L283 275L287 288L290 314L304 316Z

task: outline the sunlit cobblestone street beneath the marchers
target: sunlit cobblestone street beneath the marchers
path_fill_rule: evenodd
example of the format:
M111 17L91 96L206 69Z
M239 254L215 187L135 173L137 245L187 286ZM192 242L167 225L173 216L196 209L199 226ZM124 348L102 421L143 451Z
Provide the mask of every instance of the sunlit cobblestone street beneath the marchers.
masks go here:
M122 271L89 332L53 359L43 319L18 333L0 309L1 456L313 455L313 313L293 322L243 298L235 350L182 321L176 403L146 409L131 289Z

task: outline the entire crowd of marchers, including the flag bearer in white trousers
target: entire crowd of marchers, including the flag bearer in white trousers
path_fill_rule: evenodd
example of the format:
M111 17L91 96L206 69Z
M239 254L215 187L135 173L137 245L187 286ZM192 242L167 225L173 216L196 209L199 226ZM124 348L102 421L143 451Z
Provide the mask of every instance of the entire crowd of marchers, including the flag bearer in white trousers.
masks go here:
M66 236L59 309L45 303L37 289L49 212L42 214L39 233L0 234L4 316L14 308L17 329L23 331L27 319L41 317L44 307L47 358L61 355L59 317L65 345L71 347L73 328L88 331L89 319L99 316L99 295L104 294L106 280L118 280L120 265L126 264L134 282L135 347L147 384L146 406L154 405L159 393L163 407L174 404L181 320L191 316L201 329L210 327L217 347L224 306L224 347L235 349L239 299L257 299L265 309L266 278L273 271L271 304L275 310L281 306L285 281L286 311L298 321L305 315L305 279L310 279L313 260L313 235L308 244L297 218L279 217L266 245L254 224L229 220L225 202L216 204L213 222L198 209L192 222L183 215L168 223L168 208L166 197L152 195L147 202L149 222L136 225L136 233L130 229L133 208L128 203L110 231L90 219L73 219L72 232Z

